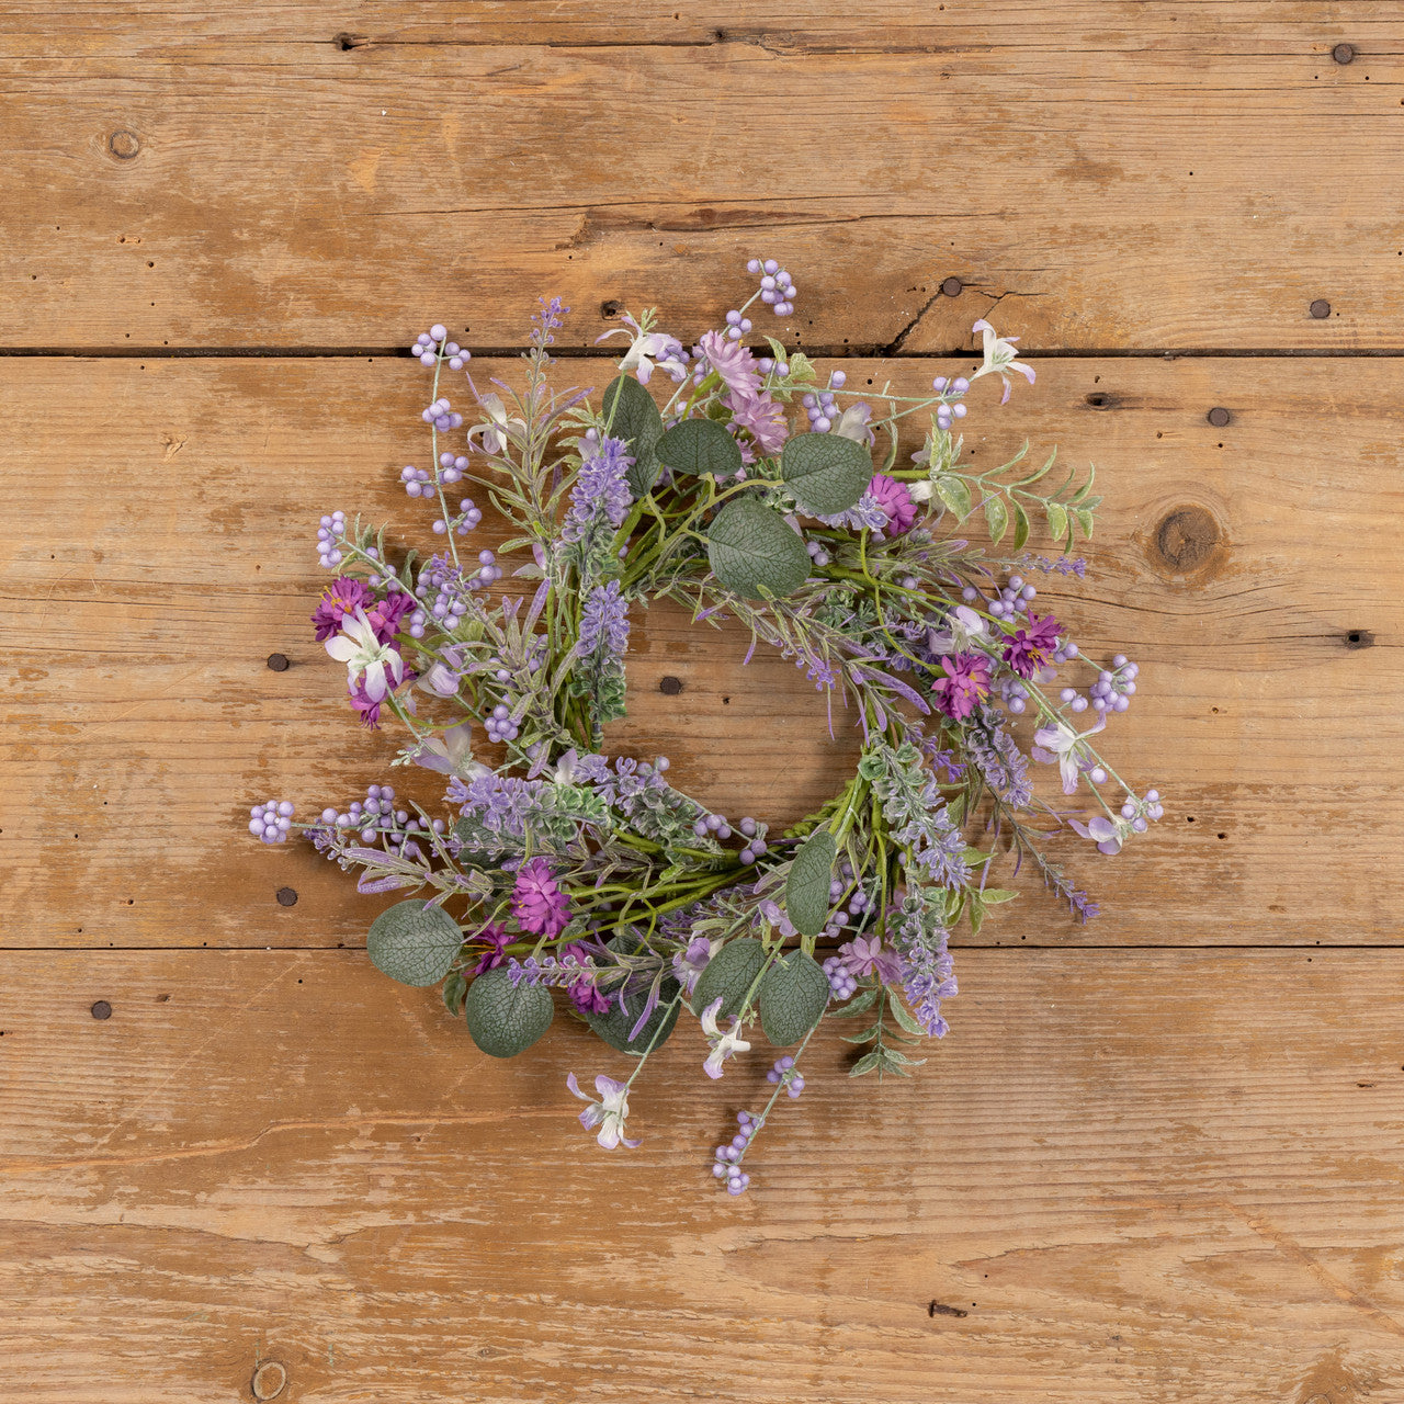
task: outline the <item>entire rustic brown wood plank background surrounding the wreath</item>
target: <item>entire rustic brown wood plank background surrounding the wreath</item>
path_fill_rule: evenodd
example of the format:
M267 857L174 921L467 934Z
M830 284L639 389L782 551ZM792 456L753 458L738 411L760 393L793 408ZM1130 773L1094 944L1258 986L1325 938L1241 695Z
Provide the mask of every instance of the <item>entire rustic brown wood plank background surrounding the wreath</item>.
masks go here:
M3 0L0 94L0 1400L1404 1400L1397 4ZM1167 816L1075 849L1101 921L962 942L911 1084L826 1040L731 1200L762 1057L677 1039L605 1155L595 1045L482 1057L243 816L385 778L306 614L320 512L420 518L399 348L560 292L601 383L751 253L851 379L1022 334L969 442L1097 463L1047 595ZM720 807L851 761L783 661L636 643L616 744Z

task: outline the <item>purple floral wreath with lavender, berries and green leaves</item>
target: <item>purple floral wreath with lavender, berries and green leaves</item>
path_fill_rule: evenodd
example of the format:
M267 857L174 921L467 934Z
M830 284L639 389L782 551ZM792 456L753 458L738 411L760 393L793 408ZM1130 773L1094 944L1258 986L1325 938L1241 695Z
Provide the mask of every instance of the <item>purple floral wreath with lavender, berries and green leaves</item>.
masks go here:
M383 528L323 517L317 549L336 576L312 622L345 664L362 724L404 727L392 765L439 772L452 817L372 785L309 824L286 800L256 806L249 824L265 842L300 830L357 869L364 893L414 893L371 924L369 956L404 984L442 983L484 1053L529 1049L559 1002L623 1054L628 1074L595 1077L595 1095L567 1078L607 1148L637 1144L629 1094L681 1015L701 1024L710 1077L758 1031L781 1056L769 1101L740 1112L716 1150L731 1193L750 1182L747 1151L776 1099L802 1092L826 1016L868 1021L848 1036L862 1049L855 1077L907 1074L921 1061L908 1049L946 1032L949 934L977 932L1015 896L993 885L997 862L1031 861L1087 920L1097 907L1047 856L1049 835L1066 824L1112 854L1161 814L1155 790L1134 793L1094 743L1126 710L1136 664L1084 658L1036 612L1028 578L1082 576L1070 553L1092 534L1091 475L1052 486L1052 456L981 473L962 459L974 385L998 378L1008 400L1011 373L1035 378L1014 340L977 322L969 378L859 397L842 369L821 379L774 338L765 355L747 345L753 305L783 317L795 299L774 260L747 267L751 298L691 351L656 310L626 314L605 334L629 345L598 399L552 385L559 299L532 317L515 388L476 385L445 327L418 336L431 458L400 479L438 541L400 555ZM466 435L445 372L466 375ZM929 421L925 441L897 466L911 416ZM496 549L466 541L484 515L469 491L505 522ZM987 543L960 535L972 518ZM1059 556L1026 552L1035 519ZM775 833L682 793L665 757L607 757L630 614L656 600L695 622L739 621L753 647L778 649L851 709L862 755L840 793ZM1059 687L1064 668L1081 681ZM496 764L475 751L476 727ZM1029 755L1095 812L1038 799Z

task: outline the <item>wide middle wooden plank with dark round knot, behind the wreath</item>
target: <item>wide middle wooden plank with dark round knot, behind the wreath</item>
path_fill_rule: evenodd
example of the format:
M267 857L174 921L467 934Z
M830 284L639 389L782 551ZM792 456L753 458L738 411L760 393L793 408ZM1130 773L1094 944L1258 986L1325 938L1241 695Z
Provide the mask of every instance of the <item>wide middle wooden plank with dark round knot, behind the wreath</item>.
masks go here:
M240 814L271 796L317 812L392 778L397 743L351 723L309 637L324 578L310 528L343 507L406 543L423 532L427 510L396 477L425 446L425 378L383 361L11 365L0 939L362 941L376 906L309 849L254 845ZM956 366L854 362L849 383L890 373L915 392L936 369ZM1115 862L1060 844L1106 904L1098 924L1071 925L1024 875L1029 900L981 939L1400 941L1384 875L1404 834L1404 716L1384 699L1401 684L1401 376L1391 361L1349 375L1310 359L1068 361L1002 411L993 393L976 403L979 462L1025 435L1097 462L1109 510L1088 578L1046 583L1045 598L1085 647L1144 665L1109 753L1168 804ZM1304 428L1323 400L1328 438ZM1212 406L1231 409L1228 427L1206 423ZM635 646L614 747L668 754L684 788L733 816L789 821L838 788L851 731L838 715L828 740L824 701L788 663L762 650L743 668L743 637L661 608ZM265 665L275 651L288 671ZM664 675L681 699L660 695ZM400 776L437 803L431 776ZM275 903L284 886L295 908Z

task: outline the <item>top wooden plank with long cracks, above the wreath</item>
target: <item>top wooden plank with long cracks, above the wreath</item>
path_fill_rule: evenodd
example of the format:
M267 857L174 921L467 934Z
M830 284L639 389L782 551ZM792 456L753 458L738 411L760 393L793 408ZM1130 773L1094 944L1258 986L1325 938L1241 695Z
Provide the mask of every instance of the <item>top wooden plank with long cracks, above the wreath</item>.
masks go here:
M695 334L761 251L812 347L1398 350L1401 52L1389 4L11 3L0 344Z

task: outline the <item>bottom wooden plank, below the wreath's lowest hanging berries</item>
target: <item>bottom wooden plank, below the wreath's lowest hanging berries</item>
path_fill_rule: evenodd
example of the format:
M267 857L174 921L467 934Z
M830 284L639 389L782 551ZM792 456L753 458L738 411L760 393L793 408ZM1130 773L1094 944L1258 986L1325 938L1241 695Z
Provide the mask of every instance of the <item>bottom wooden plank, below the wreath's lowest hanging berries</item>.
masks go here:
M11 955L0 1400L1404 1397L1391 953L960 979L913 1082L826 1036L731 1200L762 1050L680 1035L609 1158L564 1024L501 1064L352 952Z

